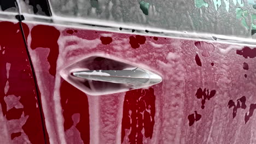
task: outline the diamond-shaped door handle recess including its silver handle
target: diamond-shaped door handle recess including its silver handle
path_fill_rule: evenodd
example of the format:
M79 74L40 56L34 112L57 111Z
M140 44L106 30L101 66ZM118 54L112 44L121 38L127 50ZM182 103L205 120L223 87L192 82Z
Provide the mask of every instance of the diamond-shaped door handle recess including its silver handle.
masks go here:
M106 95L148 88L162 81L154 71L118 61L104 54L84 57L61 69L60 75L89 95Z

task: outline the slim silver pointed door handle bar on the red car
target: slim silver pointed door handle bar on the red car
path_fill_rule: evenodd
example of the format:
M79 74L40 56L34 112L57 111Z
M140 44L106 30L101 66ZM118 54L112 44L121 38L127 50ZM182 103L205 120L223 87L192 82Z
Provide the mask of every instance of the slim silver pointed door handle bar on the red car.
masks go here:
M124 70L86 70L72 73L83 79L129 84L135 87L151 86L162 81L161 76L140 68Z

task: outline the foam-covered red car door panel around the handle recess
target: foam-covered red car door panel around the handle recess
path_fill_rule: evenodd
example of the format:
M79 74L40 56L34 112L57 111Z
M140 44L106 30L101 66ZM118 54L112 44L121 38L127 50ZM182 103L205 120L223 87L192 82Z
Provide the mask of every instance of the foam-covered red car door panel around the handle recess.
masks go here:
M253 47L28 22L23 27L50 143L256 142ZM86 95L60 71L90 55L155 71L163 81Z

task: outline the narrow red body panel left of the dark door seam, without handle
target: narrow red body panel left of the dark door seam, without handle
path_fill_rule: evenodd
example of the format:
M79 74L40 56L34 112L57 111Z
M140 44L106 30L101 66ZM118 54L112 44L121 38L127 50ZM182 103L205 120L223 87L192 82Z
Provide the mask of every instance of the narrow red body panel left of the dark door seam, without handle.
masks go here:
M45 143L20 25L2 21L0 32L0 143Z

